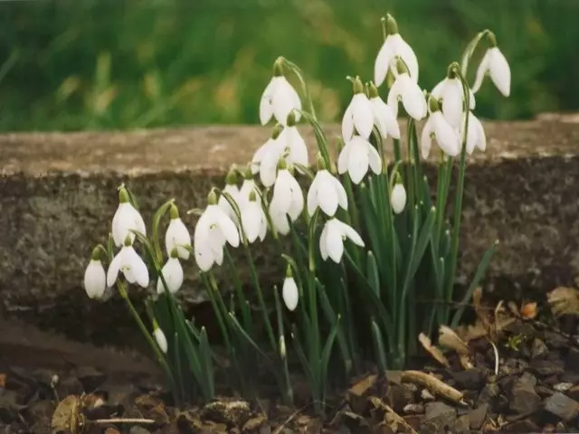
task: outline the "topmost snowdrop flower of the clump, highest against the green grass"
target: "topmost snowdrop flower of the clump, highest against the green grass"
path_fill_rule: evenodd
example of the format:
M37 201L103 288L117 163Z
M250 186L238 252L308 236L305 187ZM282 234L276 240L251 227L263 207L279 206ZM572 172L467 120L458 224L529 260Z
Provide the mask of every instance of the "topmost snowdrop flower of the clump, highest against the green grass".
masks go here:
M392 71L392 65L396 59L402 60L408 68L410 78L416 83L418 82L418 60L414 54L412 47L403 40L403 37L398 33L398 24L391 14L387 14L385 21L386 38L374 64L374 82L376 86L380 86L388 70ZM395 64L395 63L394 63ZM392 71L395 75L396 71Z

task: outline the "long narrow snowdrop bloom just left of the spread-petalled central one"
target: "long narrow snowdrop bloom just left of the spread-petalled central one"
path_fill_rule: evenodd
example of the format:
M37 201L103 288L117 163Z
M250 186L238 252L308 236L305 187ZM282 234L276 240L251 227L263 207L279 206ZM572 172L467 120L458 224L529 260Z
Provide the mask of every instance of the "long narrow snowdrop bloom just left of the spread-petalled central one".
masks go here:
M289 232L288 216L291 222L299 218L304 209L304 193L288 169L281 169L273 186L270 203L271 222L282 235Z

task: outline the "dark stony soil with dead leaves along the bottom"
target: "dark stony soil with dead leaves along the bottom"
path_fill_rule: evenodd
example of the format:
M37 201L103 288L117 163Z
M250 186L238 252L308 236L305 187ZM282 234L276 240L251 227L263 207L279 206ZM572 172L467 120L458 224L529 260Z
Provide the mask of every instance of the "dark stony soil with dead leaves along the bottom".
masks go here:
M574 324L515 320L498 340L498 375L486 338L470 342L468 369L458 356L449 355L450 368L430 357L414 360L419 373L428 374L427 384L416 371L365 374L328 401L324 418L307 406L233 396L176 409L162 378L142 356L60 338L52 339L49 354L38 349L42 332L2 328L24 334L18 343L0 339L5 433L579 432Z

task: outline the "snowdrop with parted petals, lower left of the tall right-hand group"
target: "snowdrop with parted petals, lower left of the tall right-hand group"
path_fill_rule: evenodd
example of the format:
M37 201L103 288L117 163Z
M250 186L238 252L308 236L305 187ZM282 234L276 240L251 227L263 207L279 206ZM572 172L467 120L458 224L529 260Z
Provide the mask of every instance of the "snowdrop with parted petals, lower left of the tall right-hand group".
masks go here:
M460 136L458 131L451 127L442 115L440 105L436 99L430 99L431 115L422 128L421 154L422 158L428 158L432 139L447 156L460 154Z

